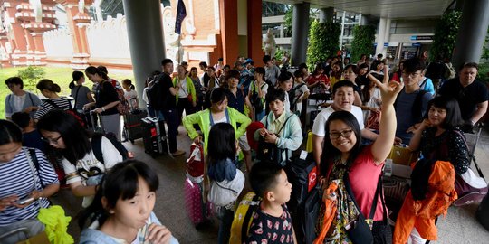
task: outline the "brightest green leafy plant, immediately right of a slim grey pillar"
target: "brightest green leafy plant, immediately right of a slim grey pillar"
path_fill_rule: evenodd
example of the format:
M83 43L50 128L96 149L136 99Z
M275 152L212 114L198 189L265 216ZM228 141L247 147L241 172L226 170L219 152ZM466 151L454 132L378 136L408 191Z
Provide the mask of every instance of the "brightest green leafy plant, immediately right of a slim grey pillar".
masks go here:
M313 67L319 61L326 61L328 56L336 54L340 49L340 23L319 23L314 20L309 30L307 47L307 64Z

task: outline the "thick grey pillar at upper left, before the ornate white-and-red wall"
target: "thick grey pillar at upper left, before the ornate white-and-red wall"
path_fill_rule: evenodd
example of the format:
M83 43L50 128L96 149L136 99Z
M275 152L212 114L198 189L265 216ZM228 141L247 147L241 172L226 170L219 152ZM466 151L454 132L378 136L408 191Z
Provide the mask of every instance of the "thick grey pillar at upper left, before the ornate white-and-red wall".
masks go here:
M141 99L146 78L152 71L161 70L161 61L166 57L161 7L158 0L123 0L122 3L139 104L144 104Z

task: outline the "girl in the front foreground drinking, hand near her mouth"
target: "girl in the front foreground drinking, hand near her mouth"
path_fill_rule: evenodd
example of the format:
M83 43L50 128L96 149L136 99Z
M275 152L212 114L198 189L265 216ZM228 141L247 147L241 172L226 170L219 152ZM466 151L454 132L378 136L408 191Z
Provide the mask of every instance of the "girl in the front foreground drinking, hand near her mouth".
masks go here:
M148 165L136 160L116 164L81 213L80 243L177 244L153 212L158 185L158 175Z

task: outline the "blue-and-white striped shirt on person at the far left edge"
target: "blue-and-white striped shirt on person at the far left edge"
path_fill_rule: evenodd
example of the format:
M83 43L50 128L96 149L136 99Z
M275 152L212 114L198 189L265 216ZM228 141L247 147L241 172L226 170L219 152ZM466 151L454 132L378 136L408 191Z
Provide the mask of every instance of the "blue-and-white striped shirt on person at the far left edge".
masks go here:
M58 176L54 173L53 166L46 160L45 155L38 149L35 149L35 156L39 162L40 173L32 165L34 170L35 180L29 161L27 160L27 147L15 155L14 159L8 163L0 164L0 199L17 195L23 199L34 190L41 190L41 182L44 185L49 185L58 182ZM35 186L34 186L35 182ZM39 213L40 207L47 208L49 202L46 198L35 201L25 207L19 209L14 206L7 207L4 211L0 211L0 226L6 226L16 221L34 219Z

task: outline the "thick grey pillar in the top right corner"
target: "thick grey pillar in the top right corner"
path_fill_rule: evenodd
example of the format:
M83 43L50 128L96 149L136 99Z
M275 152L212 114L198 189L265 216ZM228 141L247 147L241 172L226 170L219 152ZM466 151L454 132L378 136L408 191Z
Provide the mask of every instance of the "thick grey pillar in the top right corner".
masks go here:
M460 28L456 37L452 63L455 69L467 61L479 62L489 25L489 1L464 1Z

